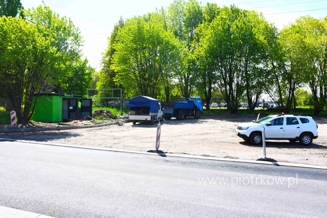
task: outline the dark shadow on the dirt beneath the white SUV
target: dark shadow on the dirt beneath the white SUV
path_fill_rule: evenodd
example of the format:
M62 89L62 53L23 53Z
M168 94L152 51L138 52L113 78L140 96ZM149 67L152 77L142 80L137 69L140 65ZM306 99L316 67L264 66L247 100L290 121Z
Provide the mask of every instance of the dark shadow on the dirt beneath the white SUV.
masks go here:
M251 146L251 147L262 147L261 145L253 145L250 142L239 142L242 145ZM307 149L327 149L327 146L325 145L319 145L312 143L311 145L301 145L299 142L266 142L266 147L272 147L272 148L307 148Z

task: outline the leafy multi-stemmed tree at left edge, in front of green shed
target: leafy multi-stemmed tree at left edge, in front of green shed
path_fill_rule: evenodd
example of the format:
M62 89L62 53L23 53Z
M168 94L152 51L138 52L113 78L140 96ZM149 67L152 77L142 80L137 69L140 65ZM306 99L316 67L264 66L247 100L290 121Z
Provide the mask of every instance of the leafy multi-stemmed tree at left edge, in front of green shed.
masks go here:
M57 49L33 24L20 18L0 18L0 97L16 111L18 122L33 116L34 94L37 99L57 56Z

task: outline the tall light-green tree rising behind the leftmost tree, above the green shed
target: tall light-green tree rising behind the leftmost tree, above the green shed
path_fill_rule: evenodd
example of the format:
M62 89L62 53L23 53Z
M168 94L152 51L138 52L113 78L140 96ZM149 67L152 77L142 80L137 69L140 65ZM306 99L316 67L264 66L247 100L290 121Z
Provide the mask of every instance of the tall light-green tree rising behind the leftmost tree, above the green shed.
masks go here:
M82 37L73 22L52 11L46 5L28 9L26 20L35 25L38 32L50 41L51 47L58 51L57 63L51 71L56 88L65 89L68 77L74 72L77 59L81 57Z

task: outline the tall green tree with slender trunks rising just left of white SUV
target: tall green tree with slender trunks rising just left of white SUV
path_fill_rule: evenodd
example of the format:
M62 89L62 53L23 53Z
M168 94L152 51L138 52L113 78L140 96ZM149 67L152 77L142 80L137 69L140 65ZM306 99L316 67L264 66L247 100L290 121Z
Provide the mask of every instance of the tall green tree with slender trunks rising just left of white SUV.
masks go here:
M245 12L241 9L224 7L208 30L203 31L205 53L212 59L218 74L217 88L232 113L237 112L239 99L244 93L242 60L249 31L246 22Z

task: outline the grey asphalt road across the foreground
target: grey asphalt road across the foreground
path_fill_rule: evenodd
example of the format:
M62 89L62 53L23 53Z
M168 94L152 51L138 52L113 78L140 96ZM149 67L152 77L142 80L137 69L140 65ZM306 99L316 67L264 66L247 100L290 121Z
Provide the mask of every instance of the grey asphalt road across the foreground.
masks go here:
M326 217L326 196L326 170L0 142L0 205L57 218Z

